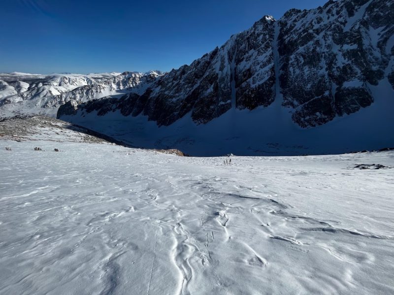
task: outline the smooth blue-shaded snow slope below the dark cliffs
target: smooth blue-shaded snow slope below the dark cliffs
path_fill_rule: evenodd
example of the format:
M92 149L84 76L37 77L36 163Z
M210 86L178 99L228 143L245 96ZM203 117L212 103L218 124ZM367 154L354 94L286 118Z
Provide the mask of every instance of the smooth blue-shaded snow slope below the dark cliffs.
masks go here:
M145 116L118 111L98 117L78 110L62 119L107 134L135 147L178 148L196 156L333 154L394 147L394 90L387 81L372 87L374 104L314 128L301 128L275 101L269 107L230 110L206 124L189 115L158 127Z

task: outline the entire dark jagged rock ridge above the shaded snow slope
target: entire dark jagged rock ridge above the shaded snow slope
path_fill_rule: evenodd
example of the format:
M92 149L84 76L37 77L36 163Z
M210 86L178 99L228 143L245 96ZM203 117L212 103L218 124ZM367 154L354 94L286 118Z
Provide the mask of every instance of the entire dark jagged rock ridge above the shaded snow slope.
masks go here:
M156 78L143 93L77 105L58 118L119 110L159 126L186 114L197 124L231 108L254 110L277 101L301 127L322 125L374 102L372 88L394 88L394 1L328 1L292 9L278 21L263 17L222 47ZM393 97L385 97L393 99Z

